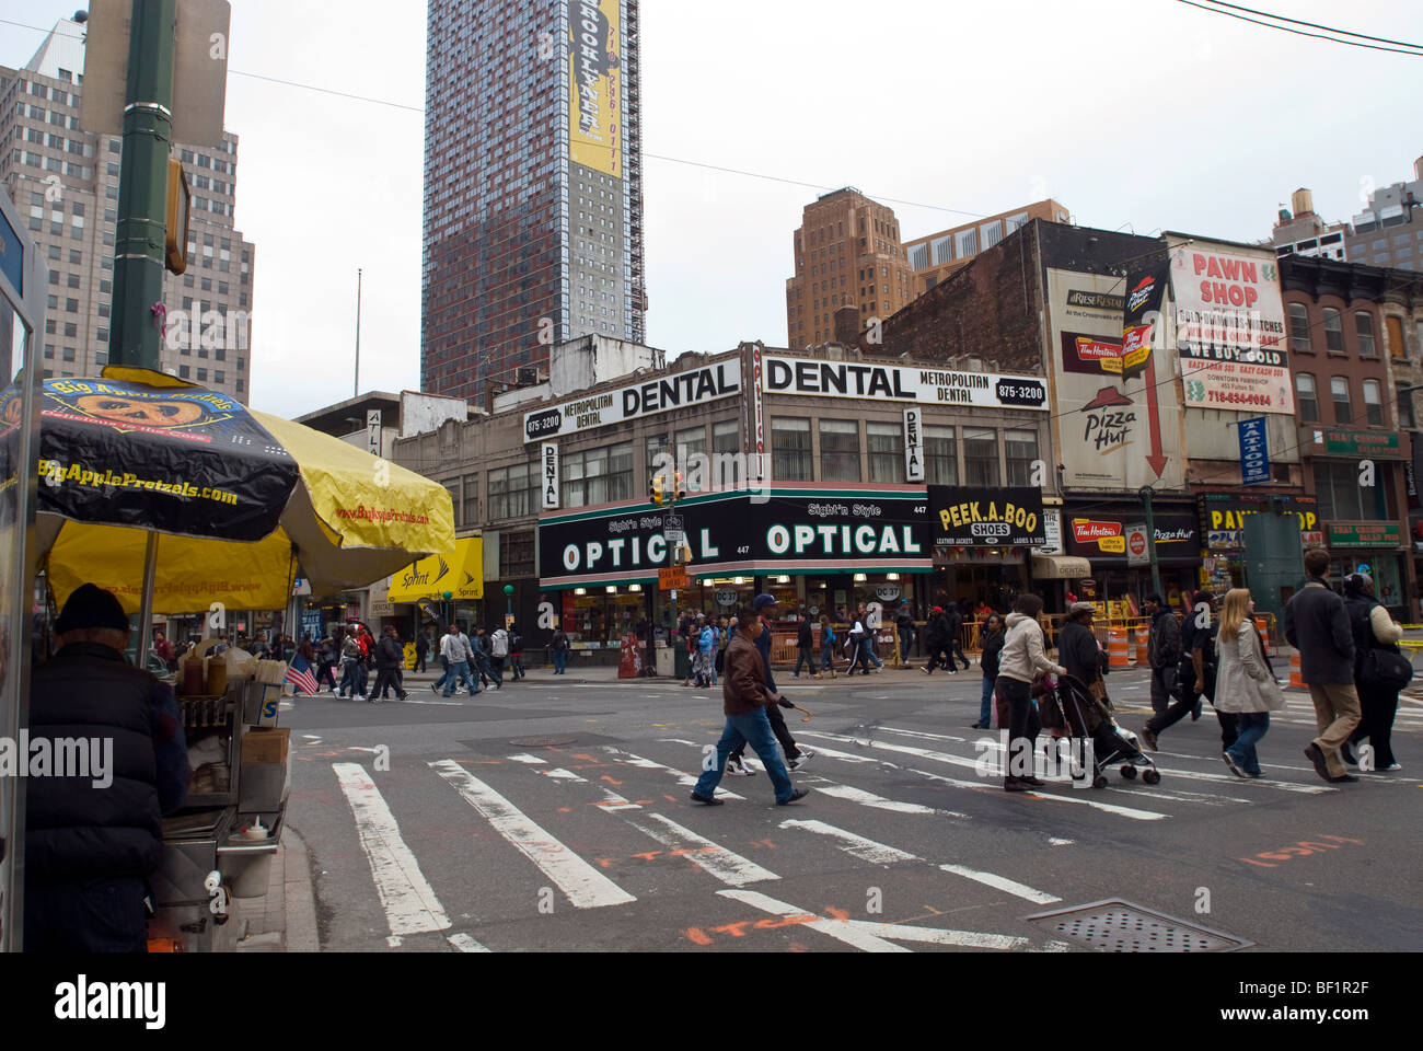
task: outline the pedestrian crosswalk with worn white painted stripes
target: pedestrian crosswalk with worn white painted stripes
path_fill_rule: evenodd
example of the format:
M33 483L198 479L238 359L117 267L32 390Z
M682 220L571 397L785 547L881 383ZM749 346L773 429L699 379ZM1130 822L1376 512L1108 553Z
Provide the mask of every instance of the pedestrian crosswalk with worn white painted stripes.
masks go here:
M1244 782L1211 756L1164 751L1154 755L1158 785L1109 772L1109 788L1091 789L1059 773L1009 796L996 733L874 725L798 736L814 756L793 779L811 793L785 809L773 806L764 770L729 778L734 788L717 789L729 806L690 803L709 742L686 738L485 749L383 772L346 749L356 760L313 765L324 783L310 790L344 803L340 825L359 853L334 843L313 850L347 862L333 877L333 909L359 916L371 936L379 929L391 947L511 951L528 947L529 930L555 937L554 926L525 926L535 917L632 916L676 894L692 911L667 933L667 948L1062 951L1022 916L1083 897L1067 877L1081 845L1339 790L1298 762L1264 756L1268 779ZM1402 783L1376 776L1350 788ZM1063 859L1060 869L1025 872L1012 856L962 852L968 837L1000 829L1032 833L1040 856ZM975 916L975 930L922 926L926 917L912 911L899 923L867 913L867 890L892 879L912 886L915 901L939 894L955 914ZM571 937L568 924L558 930Z

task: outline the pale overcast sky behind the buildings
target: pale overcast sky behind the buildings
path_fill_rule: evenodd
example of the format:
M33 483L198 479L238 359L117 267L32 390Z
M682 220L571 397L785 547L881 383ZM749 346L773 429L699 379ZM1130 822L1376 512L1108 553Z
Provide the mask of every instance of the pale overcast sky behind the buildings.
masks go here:
M0 17L50 27L78 6L0 0ZM1417 0L1258 6L1423 41ZM297 416L351 394L357 268L361 389L417 389L425 4L232 9L252 404ZM1423 58L1177 0L643 0L642 23L647 154L821 188L645 161L647 336L673 356L785 343L791 234L817 192L916 202L891 205L906 239L1054 197L1081 225L1257 241L1296 187L1348 219L1423 155ZM0 63L41 40L0 24Z

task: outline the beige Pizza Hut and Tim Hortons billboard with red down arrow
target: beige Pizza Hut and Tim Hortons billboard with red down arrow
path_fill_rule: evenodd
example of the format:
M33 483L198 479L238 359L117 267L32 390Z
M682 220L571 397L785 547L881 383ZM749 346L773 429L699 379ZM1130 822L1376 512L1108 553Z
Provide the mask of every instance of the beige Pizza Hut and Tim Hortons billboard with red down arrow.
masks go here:
M1126 281L1047 268L1053 413L1069 488L1185 484L1175 356L1146 343L1123 372Z

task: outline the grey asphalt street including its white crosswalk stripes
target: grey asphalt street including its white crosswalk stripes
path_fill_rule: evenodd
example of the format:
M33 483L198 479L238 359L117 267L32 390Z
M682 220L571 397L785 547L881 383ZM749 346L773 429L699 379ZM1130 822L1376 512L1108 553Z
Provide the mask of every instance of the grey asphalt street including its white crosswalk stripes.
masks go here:
M1322 782L1308 694L1259 748L1220 758L1211 709L1161 736L1161 782L1066 775L1002 790L975 668L794 681L817 755L810 796L764 772L726 806L689 800L723 725L720 689L534 671L478 696L302 698L287 822L310 849L336 951L1086 951L1027 917L1121 899L1272 951L1419 950L1423 702L1405 699L1397 773ZM1141 672L1109 679L1150 715Z

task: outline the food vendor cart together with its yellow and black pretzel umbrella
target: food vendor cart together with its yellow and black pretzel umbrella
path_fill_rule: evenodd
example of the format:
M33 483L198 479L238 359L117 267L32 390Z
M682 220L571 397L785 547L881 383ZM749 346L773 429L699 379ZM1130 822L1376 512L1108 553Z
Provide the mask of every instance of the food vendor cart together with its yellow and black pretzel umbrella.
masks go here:
M37 560L63 607L83 584L138 614L286 608L293 581L364 587L454 548L448 491L309 427L138 369L47 379L40 394ZM231 659L229 659L231 658ZM290 785L277 726L286 665L191 658L175 686L194 783L164 820L149 946L221 951L266 894ZM231 678L229 678L231 676ZM23 842L23 840L21 840Z

